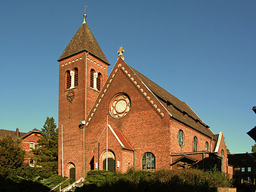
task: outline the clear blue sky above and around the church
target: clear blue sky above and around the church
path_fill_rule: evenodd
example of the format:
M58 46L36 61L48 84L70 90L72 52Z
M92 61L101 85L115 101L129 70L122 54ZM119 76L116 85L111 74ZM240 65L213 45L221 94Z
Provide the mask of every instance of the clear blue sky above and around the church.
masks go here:
M0 128L58 122L57 59L86 21L110 62L125 61L185 101L231 153L256 126L255 1L0 1Z

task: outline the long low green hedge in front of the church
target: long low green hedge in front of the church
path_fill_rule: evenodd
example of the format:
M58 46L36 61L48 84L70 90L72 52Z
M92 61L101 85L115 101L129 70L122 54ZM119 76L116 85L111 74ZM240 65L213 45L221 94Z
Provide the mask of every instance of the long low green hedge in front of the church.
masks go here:
M212 187L232 186L223 173L199 169L125 174L93 170L88 172L84 183L77 191L209 191Z

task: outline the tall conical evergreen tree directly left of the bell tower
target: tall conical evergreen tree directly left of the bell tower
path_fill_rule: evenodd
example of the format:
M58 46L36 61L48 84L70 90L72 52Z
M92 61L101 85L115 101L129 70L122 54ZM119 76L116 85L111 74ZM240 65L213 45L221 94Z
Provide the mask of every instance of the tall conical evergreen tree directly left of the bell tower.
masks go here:
M42 137L38 140L38 147L33 153L36 155L36 164L43 168L49 168L53 174L58 168L58 129L53 117L47 116L42 128Z

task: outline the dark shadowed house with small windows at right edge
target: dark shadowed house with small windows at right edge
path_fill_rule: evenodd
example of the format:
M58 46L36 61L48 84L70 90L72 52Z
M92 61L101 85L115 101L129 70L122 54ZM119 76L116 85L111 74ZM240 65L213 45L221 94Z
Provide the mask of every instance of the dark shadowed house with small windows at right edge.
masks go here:
M256 182L256 153L228 155L229 164L233 166L233 178L237 183Z

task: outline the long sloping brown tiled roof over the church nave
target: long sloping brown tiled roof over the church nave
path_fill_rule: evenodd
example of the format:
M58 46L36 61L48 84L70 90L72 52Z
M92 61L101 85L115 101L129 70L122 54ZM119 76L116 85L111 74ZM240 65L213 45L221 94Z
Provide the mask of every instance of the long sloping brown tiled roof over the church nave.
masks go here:
M178 98L174 97L174 95L168 93L168 91L155 84L155 82L151 81L146 76L139 73L131 66L129 67L144 83L144 85L151 90L155 97L159 98L160 102L163 104L163 106L165 106L166 110L170 112L173 118L186 123L188 126L195 128L197 131L200 131L209 137L214 136L214 133L209 129L209 126L207 126L207 124L205 124L203 120L197 116L197 114L187 105L187 103L180 101ZM169 104L168 107L167 104Z

